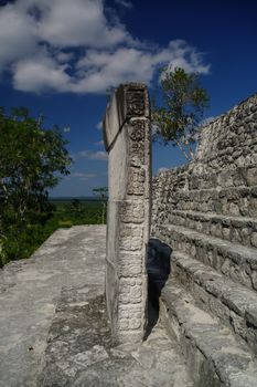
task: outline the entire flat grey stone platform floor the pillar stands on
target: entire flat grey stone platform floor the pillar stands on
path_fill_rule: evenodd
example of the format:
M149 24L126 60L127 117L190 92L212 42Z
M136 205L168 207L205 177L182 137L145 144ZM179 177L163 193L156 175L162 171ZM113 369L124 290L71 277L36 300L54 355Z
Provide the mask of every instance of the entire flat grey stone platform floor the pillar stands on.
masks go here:
M141 345L111 344L105 234L101 226L58 230L0 271L0 387L192 386L160 324Z

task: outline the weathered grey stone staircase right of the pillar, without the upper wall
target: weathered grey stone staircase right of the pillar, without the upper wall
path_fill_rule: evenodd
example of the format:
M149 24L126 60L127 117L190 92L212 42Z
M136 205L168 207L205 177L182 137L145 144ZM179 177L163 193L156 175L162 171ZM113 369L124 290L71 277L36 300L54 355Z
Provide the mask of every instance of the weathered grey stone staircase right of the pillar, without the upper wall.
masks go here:
M161 174L150 294L197 387L257 386L256 170Z

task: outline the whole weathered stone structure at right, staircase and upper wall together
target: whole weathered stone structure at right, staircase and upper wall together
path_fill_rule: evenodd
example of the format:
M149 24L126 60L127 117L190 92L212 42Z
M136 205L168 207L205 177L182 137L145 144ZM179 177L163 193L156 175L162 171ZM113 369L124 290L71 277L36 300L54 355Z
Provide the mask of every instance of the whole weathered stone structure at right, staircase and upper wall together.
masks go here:
M257 384L256 111L254 95L205 125L196 159L153 179L152 237L173 252L150 275L197 386Z

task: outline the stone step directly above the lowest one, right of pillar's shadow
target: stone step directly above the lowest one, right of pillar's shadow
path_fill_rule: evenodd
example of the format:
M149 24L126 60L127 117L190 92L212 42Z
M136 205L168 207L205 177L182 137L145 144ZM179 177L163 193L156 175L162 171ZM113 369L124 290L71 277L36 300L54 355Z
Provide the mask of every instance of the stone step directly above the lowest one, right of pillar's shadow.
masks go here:
M257 354L257 293L184 253L172 254L172 278L196 304L224 322Z

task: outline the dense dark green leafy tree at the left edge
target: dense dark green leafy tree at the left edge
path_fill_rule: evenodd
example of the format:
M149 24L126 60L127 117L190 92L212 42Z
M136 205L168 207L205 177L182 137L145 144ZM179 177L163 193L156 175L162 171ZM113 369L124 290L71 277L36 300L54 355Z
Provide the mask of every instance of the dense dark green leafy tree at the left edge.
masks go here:
M43 128L26 108L0 111L0 263L28 257L52 211L49 189L68 174L72 159L57 127Z

